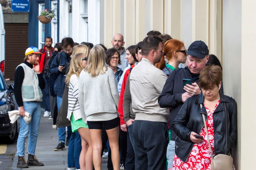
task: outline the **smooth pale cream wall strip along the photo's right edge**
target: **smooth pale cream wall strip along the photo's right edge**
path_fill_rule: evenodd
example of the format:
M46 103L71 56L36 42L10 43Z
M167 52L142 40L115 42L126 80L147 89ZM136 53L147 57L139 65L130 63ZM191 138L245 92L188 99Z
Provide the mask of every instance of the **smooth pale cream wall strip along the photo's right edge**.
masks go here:
M242 0L242 30L241 30L241 169L255 169L256 136L255 136L255 103L256 76L254 64L256 57L249 49L254 51L256 42L256 1ZM249 64L249 65L248 65ZM234 77L235 79L235 77ZM239 103L240 104L240 103ZM238 153L239 154L239 153ZM240 154L239 154L240 155Z

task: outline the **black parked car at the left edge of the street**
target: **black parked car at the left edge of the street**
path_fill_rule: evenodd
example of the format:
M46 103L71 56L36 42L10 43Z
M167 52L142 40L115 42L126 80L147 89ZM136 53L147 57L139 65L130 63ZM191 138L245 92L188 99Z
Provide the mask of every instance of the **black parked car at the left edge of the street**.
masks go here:
M0 136L6 143L12 144L18 137L17 121L14 124L10 123L8 111L15 109L13 101L14 85L7 87L6 81L0 71Z

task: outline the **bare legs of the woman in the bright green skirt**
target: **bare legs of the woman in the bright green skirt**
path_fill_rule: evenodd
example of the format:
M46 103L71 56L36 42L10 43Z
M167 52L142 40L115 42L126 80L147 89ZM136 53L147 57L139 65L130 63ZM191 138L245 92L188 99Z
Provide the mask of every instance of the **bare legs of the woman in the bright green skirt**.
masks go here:
M90 136L89 129L81 127L78 129L78 132L82 139L82 151L83 151L83 147L85 150L84 156L82 156L82 158L81 158L81 154L82 154L82 151L81 151L81 154L79 157L79 163L80 163L80 159L81 159L81 161L83 161L85 163L84 169L92 170L93 169L93 160L92 160L93 150L92 150L92 142L91 142L91 136ZM84 169L82 169L81 164L80 164L80 168L81 168L81 170L84 170Z

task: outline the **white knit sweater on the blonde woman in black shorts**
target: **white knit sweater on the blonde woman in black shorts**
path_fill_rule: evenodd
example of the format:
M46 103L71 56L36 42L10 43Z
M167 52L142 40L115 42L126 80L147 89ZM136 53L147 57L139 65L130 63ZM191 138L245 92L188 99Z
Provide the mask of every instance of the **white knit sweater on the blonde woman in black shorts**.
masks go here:
M94 116L95 113L117 113L119 93L112 69L107 68L104 74L95 77L82 71L79 76L78 89L84 122L86 122L86 117Z

